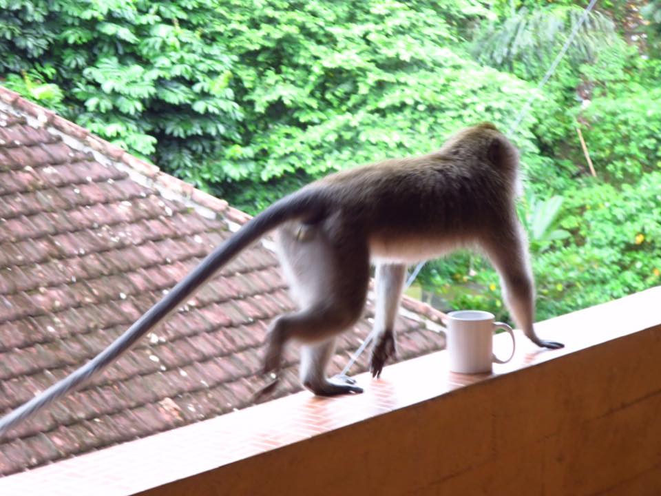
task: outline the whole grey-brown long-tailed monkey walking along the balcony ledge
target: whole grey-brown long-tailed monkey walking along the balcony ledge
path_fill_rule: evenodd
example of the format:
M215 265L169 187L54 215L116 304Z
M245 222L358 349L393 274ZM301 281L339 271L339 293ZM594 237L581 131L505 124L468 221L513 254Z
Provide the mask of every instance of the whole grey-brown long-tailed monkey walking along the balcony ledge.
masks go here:
M491 123L461 130L437 151L347 169L267 207L224 241L123 335L72 375L0 419L0 436L114 362L240 251L276 230L277 254L297 310L271 323L264 373L277 384L284 347L300 343L300 379L315 395L361 393L352 378L328 378L337 336L361 316L376 266L376 338L370 372L395 356L394 325L407 266L458 248L483 251L499 272L514 321L534 331L534 281L516 215L518 151Z

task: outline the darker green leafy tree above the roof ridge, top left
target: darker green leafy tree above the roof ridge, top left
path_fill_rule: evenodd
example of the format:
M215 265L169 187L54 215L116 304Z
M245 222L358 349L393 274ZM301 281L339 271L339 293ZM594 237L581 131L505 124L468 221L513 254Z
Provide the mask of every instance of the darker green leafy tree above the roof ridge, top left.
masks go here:
M216 41L223 26L212 2L0 0L0 8L0 74L50 68L39 72L65 94L63 113L92 132L200 185L238 139L232 58Z

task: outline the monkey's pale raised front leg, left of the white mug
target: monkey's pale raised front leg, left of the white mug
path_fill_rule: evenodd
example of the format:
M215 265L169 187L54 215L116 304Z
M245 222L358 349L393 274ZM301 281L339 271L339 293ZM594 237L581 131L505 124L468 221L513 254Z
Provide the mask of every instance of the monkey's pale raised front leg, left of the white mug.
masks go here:
M388 358L395 356L395 318L406 278L406 265L379 264L376 271L375 335L370 358L372 377L380 377Z

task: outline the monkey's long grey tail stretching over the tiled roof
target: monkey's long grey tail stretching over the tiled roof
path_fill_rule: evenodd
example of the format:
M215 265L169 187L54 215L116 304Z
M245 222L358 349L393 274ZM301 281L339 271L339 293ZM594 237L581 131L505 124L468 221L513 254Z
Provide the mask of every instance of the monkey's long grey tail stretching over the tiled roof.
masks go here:
M147 310L129 329L96 357L92 358L90 362L56 382L32 400L0 418L0 439L17 424L28 419L69 391L82 386L93 375L105 369L150 329L167 318L183 301L191 298L193 293L209 281L220 267L226 265L240 251L262 238L264 234L287 220L298 217L308 218L310 216L319 218L325 210L323 191L306 188L282 198L258 216L253 217L231 238L214 249L211 254L200 262L200 265L178 282L162 300Z

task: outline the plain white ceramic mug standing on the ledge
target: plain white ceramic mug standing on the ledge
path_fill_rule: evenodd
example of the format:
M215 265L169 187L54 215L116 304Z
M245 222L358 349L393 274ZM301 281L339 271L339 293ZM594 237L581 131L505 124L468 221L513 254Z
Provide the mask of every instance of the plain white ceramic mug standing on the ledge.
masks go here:
M492 370L492 364L507 363L514 356L516 342L512 327L496 320L493 313L481 310L459 310L448 313L447 349L450 371L459 373L484 373ZM512 354L507 360L494 355L494 331L504 329L512 338Z

